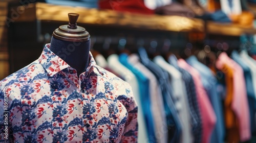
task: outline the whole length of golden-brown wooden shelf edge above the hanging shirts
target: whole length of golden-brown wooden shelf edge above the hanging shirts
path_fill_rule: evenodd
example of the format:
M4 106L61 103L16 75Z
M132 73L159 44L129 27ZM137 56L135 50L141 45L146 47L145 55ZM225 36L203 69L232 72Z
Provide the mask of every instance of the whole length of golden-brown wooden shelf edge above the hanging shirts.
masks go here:
M14 8L15 9L15 8ZM241 34L256 34L256 29L242 27L232 23L205 22L201 19L182 16L142 15L134 13L116 12L113 10L87 9L84 7L57 6L46 3L19 6L24 10L15 22L22 21L68 21L68 13L79 13L78 24L99 26L113 26L121 28L135 28L144 30L158 30L170 32L202 32L226 36L240 36Z

